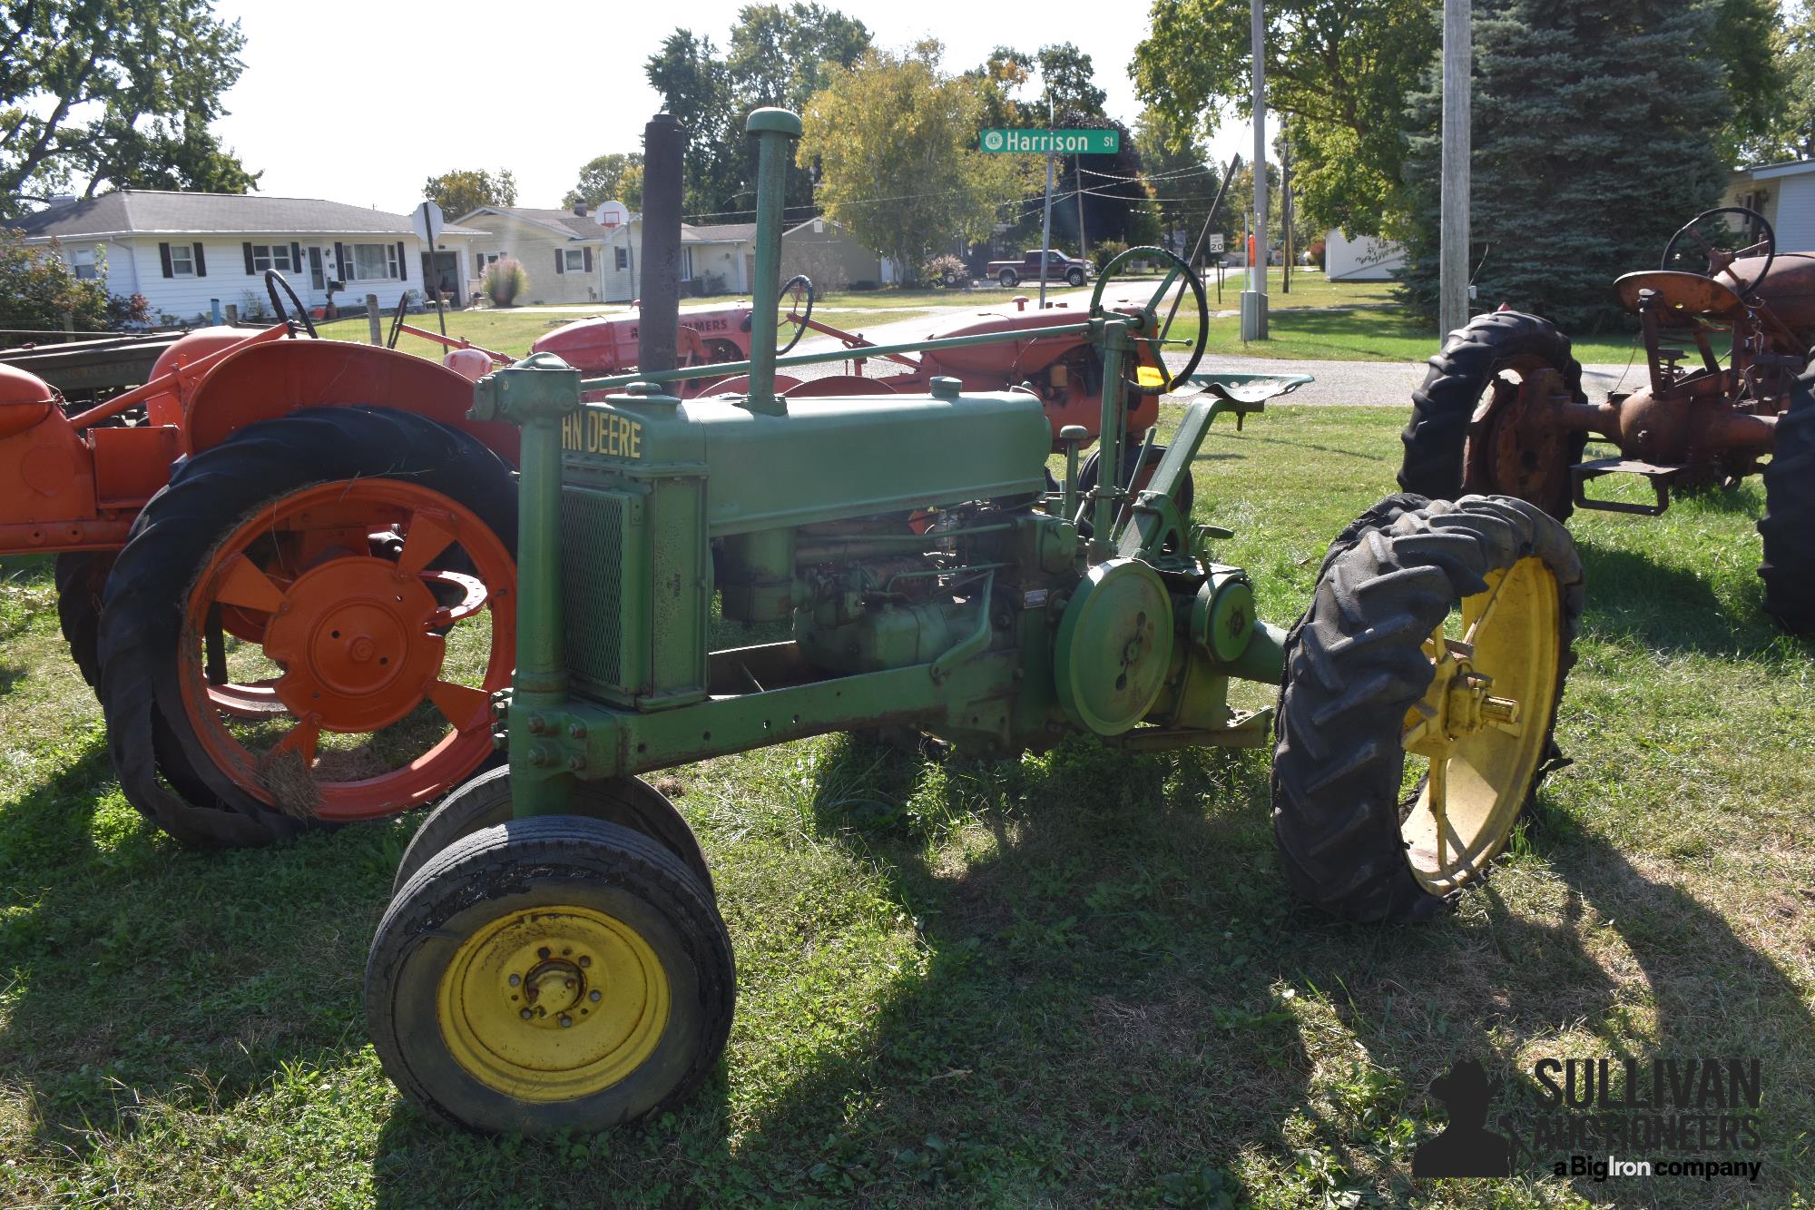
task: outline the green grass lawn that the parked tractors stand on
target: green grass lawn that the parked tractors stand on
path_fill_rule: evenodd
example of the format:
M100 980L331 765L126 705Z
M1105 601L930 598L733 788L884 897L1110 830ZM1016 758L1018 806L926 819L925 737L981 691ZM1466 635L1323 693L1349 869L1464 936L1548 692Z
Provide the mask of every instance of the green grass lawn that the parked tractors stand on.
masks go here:
M1198 520L1238 531L1220 558L1267 618L1392 487L1403 420L1212 432ZM441 1128L374 1059L359 981L421 812L178 848L120 796L47 569L13 569L0 1203L1808 1205L1815 649L1759 614L1761 507L1753 480L1574 523L1574 763L1423 927L1294 907L1263 752L924 761L826 736L672 770L737 952L730 1050L677 1112L552 1141ZM1568 1054L1759 1056L1762 1185L1412 1181L1454 1059Z

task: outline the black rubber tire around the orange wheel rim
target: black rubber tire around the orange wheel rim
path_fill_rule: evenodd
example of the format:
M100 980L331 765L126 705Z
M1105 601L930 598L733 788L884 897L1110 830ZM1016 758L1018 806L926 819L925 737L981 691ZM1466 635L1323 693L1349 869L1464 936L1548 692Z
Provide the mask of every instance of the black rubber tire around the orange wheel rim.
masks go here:
M185 460L134 520L107 578L96 692L127 801L178 841L256 847L323 827L258 801L209 763L178 685L185 601L245 518L319 483L374 478L441 492L515 549L510 467L459 429L383 407L301 409L247 425Z

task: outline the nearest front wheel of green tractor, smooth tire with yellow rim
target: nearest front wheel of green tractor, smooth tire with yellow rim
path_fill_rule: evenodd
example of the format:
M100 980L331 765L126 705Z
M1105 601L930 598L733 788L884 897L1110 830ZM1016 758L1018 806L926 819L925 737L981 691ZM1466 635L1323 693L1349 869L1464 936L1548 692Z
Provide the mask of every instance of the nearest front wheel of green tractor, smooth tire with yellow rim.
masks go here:
M390 901L365 970L385 1072L490 1134L592 1132L688 1097L737 997L711 894L646 836L544 816L474 832Z

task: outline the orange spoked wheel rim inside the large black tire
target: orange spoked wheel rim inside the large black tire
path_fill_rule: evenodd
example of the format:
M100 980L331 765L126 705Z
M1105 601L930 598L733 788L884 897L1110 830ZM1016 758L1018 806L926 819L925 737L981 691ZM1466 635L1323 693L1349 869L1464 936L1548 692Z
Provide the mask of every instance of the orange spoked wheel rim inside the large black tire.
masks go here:
M205 654L211 612L223 661ZM216 769L287 814L372 819L439 796L490 752L488 698L510 683L515 650L515 565L441 492L319 483L214 549L189 590L183 643L183 710Z

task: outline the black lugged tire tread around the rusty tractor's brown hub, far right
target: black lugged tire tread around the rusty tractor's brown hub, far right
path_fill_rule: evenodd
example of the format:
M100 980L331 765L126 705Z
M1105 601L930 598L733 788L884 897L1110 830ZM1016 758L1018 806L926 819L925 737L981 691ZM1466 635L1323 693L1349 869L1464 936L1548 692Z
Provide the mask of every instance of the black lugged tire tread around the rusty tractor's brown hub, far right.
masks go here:
M1405 458L1399 463L1399 487L1432 500L1456 500L1465 492L1503 491L1503 485L1465 483L1463 456L1468 445L1468 422L1494 378L1519 362L1543 363L1563 374L1563 383L1575 403L1586 403L1583 394L1583 367L1570 352L1570 338L1550 320L1523 311L1492 311L1477 314L1443 342L1430 358L1425 383L1412 392L1412 418L1399 434ZM1574 434L1566 445L1568 463L1581 461L1586 434ZM1574 511L1568 492L1541 503L1559 521Z

